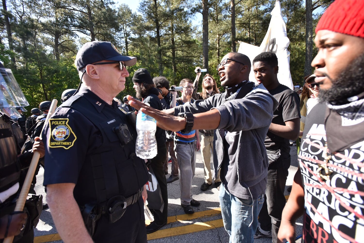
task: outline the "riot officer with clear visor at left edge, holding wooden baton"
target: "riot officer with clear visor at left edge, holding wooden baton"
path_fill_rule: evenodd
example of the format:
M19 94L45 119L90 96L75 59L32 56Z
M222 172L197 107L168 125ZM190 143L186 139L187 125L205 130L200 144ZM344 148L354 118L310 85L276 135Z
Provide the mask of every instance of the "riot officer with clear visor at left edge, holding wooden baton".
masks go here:
M8 94L12 93L11 91L16 91L12 94L19 96L16 97L17 99L5 98L2 89L0 89L0 242L9 236L16 236L13 242L33 242L33 218L30 217L30 215L34 215L33 211L28 211L27 204L25 204L22 212L14 212L14 208L23 184L20 179L20 170L29 166L34 151L40 152L40 157L43 157L44 146L38 137L32 151L17 156L17 143L19 141L14 134L10 117L16 115L20 117L20 114L16 114L15 107L10 107L9 103L17 104L19 100L28 102L17 83L14 85L14 83L6 82L7 80L15 80L15 78L12 72L5 69L1 63L0 72L0 85ZM37 213L39 214L39 212L35 212L35 214Z

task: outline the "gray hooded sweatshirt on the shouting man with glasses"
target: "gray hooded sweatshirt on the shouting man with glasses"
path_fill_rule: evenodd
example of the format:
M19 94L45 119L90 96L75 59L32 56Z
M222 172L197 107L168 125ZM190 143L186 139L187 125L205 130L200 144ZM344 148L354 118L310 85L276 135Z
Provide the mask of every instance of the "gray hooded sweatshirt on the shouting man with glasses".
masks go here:
M225 170L230 169L233 175L227 171L222 174L225 176L221 178L224 187L236 197L256 199L266 188L269 163L264 140L278 102L262 84L254 87L244 98L231 101L226 101L226 98L225 92L193 104L187 102L175 107L174 114L184 111L195 114L211 109L219 111L220 124L214 134L214 174L217 175L222 166ZM239 191L234 190L239 188L236 187L237 182L242 187ZM249 189L258 183L257 191Z

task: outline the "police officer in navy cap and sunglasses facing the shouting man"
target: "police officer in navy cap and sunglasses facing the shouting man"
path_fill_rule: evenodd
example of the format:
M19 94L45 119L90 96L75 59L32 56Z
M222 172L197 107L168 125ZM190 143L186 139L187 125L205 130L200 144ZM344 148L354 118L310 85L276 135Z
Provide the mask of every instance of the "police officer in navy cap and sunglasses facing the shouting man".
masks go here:
M136 62L110 42L84 44L75 60L80 90L43 133L47 202L64 242L147 242L147 167L135 156L131 121L113 100Z

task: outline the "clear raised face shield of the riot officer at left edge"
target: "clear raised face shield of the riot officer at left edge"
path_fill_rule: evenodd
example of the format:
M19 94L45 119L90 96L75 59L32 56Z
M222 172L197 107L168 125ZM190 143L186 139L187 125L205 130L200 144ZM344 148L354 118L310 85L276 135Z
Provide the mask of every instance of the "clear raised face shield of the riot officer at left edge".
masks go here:
M0 109L11 118L20 118L16 107L28 106L29 103L20 89L19 84L9 68L4 68L0 62Z

